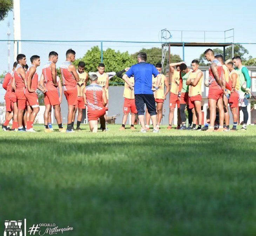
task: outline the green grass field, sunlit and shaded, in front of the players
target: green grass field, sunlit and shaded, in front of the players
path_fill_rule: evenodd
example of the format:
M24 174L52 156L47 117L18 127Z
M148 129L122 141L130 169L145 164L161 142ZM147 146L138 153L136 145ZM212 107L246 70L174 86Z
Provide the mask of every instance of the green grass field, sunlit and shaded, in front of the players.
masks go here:
M256 235L255 126L160 134L119 127L0 131L0 234L4 220L26 218L27 228L71 226L68 236Z

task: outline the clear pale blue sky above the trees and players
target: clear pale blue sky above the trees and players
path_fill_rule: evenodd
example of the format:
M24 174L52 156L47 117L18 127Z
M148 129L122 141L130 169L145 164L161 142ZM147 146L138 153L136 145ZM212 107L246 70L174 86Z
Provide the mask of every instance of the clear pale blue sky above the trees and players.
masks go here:
M242 1L201 0L20 0L22 40L113 40L143 41L147 43L103 43L103 49L134 53L141 48L161 47L161 30L213 30L234 28L234 42L256 43L256 3ZM13 12L0 22L0 40L7 40L7 23L10 22L13 39ZM171 32L170 41L181 42L180 32ZM203 33L183 32L183 41L199 42ZM208 42L224 42L224 33L206 33ZM57 67L65 61L66 50L76 51L82 57L88 49L100 43L32 43L22 42L21 53L29 58L41 57L41 66L48 59L49 51L59 53ZM249 55L256 57L256 45L243 45ZM206 48L185 48L185 61L189 64ZM11 65L13 58L11 43ZM0 42L0 74L7 71L7 42ZM171 48L171 53L182 58L182 48ZM247 55L247 56L249 56ZM41 71L41 66L39 71ZM0 85L0 102L5 90Z

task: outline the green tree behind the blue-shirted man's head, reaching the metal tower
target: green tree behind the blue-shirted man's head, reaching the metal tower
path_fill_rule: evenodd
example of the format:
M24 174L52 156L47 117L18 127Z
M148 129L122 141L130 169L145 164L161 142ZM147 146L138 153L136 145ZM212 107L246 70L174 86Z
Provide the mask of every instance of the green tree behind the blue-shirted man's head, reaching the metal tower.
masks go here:
M156 63L161 63L161 61L162 61L162 49L161 48L156 48L156 47L153 47L150 49L142 48L140 51L132 54L134 59L137 59L137 54L139 52L146 52L147 53L147 62L151 63L153 65L155 65ZM168 57L168 53L166 54L166 58L167 57ZM182 59L180 58L179 55L171 54L171 62L181 62L181 61L182 61Z

